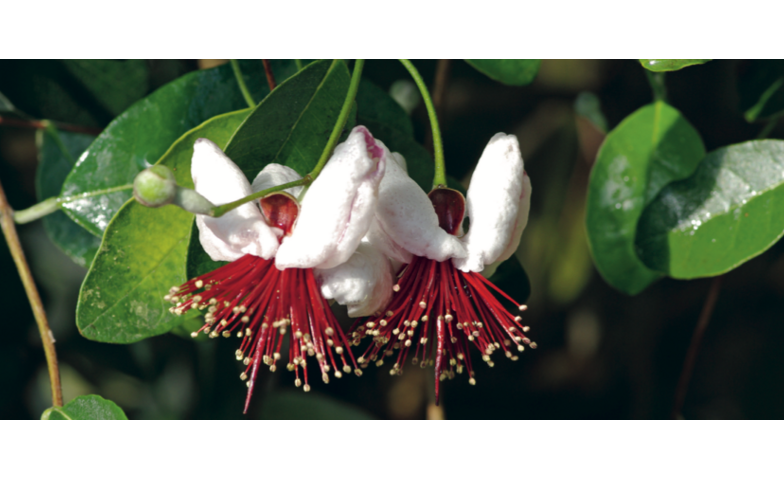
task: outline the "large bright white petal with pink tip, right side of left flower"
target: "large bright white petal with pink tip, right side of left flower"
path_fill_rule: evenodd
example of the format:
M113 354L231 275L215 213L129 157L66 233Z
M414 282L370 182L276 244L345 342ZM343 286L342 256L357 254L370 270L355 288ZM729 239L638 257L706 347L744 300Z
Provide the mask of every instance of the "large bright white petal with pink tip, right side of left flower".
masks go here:
M277 267L328 269L348 260L370 227L389 157L367 128L355 127L305 194Z

